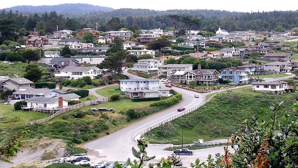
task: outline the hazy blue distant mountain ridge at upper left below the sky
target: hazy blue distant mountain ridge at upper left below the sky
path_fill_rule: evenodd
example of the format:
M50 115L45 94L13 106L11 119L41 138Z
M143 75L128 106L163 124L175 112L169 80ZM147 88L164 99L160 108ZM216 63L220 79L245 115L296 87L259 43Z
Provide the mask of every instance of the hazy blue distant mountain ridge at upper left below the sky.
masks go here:
M110 12L113 11L113 8L110 7L102 7L102 6L94 6L90 4L59 4L59 5L42 5L42 6L31 6L31 5L22 5L15 6L10 8L4 8L5 11L12 10L13 12L18 11L23 15L30 15L34 13L38 13L41 15L45 11L48 13L51 11L56 11L57 14L64 14L64 16L74 15L74 14L86 14L93 13L96 14L98 12Z

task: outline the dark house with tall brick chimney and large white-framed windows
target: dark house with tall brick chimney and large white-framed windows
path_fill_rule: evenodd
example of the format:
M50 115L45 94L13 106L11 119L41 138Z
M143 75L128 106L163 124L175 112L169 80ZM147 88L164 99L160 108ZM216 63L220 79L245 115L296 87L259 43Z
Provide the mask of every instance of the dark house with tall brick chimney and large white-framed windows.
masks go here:
M198 69L177 71L171 74L172 79L178 79L180 83L189 84L190 81L196 81L197 85L215 85L218 83L220 73L215 69L201 69L201 64L198 64Z

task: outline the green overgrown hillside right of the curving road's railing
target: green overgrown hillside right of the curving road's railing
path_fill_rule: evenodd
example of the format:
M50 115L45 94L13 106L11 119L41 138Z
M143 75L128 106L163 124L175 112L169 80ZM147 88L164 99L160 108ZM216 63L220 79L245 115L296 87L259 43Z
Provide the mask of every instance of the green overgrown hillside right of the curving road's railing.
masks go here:
M259 120L268 121L271 115L271 103L282 104L283 112L292 111L292 94L272 95L268 93L248 92L250 87L235 91L218 93L204 106L174 120L165 127L153 129L145 134L150 143L181 144L181 128L183 143L190 144L198 139L205 141L226 138L243 127L241 122L255 114ZM244 93L244 94L243 94ZM170 135L170 136L169 136Z

